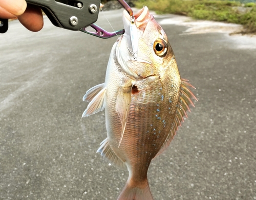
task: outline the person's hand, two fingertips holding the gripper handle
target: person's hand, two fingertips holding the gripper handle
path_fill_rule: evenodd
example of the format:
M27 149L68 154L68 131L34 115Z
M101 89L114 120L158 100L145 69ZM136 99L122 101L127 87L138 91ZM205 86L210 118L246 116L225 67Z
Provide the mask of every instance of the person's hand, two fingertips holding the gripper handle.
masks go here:
M0 18L11 19L18 17L20 23L30 31L40 31L44 26L41 9L27 5L25 0L1 0Z

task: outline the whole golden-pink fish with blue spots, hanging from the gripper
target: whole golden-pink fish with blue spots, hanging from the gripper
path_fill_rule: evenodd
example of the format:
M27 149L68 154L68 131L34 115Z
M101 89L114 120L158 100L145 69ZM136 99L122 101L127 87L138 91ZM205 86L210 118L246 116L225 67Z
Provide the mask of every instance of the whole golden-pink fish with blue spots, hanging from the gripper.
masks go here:
M118 200L152 200L148 167L169 146L197 98L148 8L133 16L124 11L122 19L125 32L112 47L105 82L83 96L89 104L82 117L105 109L107 137L97 153L129 171Z

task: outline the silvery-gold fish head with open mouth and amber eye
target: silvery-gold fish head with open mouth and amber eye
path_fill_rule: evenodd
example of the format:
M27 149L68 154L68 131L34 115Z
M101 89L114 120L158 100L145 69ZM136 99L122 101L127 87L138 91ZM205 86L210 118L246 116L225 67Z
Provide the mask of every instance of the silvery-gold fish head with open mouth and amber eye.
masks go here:
M125 33L117 41L116 58L127 75L136 80L161 77L172 62L176 65L164 30L146 6L134 16L124 10L123 24Z

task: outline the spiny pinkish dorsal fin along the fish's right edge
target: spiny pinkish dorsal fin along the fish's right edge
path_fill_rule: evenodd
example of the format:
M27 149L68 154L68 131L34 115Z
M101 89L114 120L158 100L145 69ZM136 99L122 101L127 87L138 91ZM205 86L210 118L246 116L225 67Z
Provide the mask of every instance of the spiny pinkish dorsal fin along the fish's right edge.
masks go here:
M169 146L170 142L173 140L174 136L176 135L176 131L178 130L178 127L181 126L181 121L184 121L183 117L184 116L187 117L186 112L187 111L190 112L189 105L192 105L195 107L195 105L191 101L191 98L195 98L196 101L198 101L196 96L191 92L191 90L188 89L188 86L194 89L196 88L193 87L191 84L189 84L187 81L188 80L181 79L180 99L177 105L174 122L172 124L172 128L170 129L170 132L165 142L163 143L162 147L160 148L160 151L157 153L155 158L159 156L161 153L163 153L165 149Z

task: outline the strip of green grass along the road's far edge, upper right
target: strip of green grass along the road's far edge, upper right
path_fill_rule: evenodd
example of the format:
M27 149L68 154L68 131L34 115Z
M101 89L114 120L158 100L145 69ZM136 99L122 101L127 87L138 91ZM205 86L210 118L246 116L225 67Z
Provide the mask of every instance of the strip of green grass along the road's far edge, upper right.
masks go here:
M243 24L243 33L256 34L256 5L239 2L214 1L214 0L138 0L136 7L146 5L158 14L173 13L193 17L195 19L206 19ZM252 8L246 13L239 13L237 7Z

